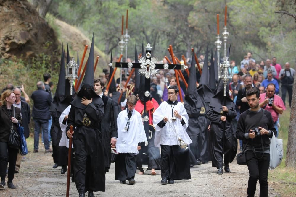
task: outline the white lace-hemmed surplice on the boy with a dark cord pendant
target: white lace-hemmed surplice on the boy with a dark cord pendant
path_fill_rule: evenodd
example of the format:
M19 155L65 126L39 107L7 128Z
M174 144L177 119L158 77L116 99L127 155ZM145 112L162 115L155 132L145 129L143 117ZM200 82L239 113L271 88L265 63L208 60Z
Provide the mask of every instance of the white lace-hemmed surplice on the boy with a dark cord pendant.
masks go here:
M141 114L136 110L132 111L130 125L128 131L124 128L128 127L128 110L123 110L117 117L117 133L116 151L118 153L135 153L138 154L138 143L147 142L146 133L142 121Z

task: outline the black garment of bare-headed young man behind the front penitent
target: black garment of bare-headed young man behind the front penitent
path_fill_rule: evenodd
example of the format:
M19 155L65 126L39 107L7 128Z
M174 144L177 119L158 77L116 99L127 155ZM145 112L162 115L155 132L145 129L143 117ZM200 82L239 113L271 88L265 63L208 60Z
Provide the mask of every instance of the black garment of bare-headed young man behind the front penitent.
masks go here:
M114 102L112 99L103 95L104 118L101 123L102 140L105 155L105 171L108 172L111 165L111 138L117 138L117 116L115 115Z

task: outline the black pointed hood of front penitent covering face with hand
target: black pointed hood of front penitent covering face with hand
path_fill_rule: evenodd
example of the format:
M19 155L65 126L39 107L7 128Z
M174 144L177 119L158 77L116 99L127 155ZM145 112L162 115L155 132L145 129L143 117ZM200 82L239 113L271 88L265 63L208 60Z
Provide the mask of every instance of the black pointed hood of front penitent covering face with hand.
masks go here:
M72 105L77 108L85 109L86 106L81 103L81 99L86 97L86 99L93 99L93 103L103 102L101 97L94 92L94 34L91 41L91 48L89 51L89 58L87 59L86 71L81 83L81 89L79 90L77 96L75 97Z

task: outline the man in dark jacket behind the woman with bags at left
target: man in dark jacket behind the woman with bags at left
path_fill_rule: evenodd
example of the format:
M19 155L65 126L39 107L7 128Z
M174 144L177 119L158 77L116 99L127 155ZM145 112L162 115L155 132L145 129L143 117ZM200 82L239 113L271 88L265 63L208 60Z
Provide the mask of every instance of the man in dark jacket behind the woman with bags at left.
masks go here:
M22 116L22 126L24 127L24 135L25 138L28 138L30 136L30 129L29 129L29 123L31 118L31 110L30 106L27 102L23 101L21 97L21 90L20 88L15 88L13 90L15 93L15 104L14 106L20 108L21 116ZM18 173L20 170L20 162L22 160L22 155L20 152L17 154L17 161L15 165L15 173Z

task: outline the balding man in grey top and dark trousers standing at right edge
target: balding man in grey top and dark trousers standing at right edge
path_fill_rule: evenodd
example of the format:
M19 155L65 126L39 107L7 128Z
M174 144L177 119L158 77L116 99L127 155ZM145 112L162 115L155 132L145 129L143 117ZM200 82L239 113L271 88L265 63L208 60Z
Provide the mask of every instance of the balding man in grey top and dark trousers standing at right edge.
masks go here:
M286 106L285 100L286 100L286 93L288 91L289 106L291 108L295 69L290 68L289 62L286 62L285 68L281 69L281 71L279 72L279 76L280 76L279 80L281 80L281 99L283 100Z

